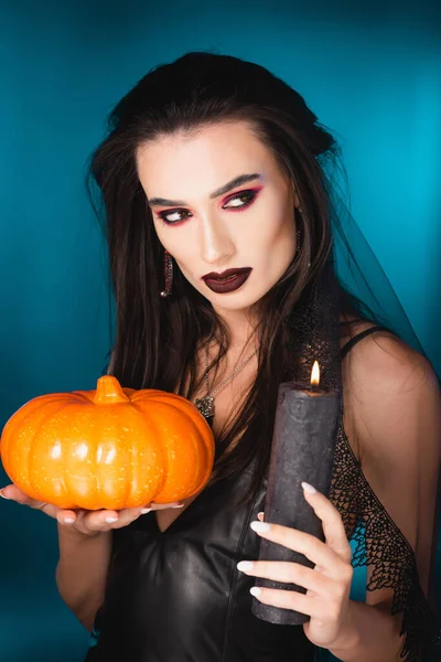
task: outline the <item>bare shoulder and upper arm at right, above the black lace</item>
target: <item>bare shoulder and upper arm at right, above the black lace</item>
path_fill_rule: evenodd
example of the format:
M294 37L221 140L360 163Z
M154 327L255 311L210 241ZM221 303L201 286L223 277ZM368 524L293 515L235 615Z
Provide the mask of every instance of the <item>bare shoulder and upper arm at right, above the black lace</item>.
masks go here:
M441 462L438 377L408 344L374 332L343 361L343 397L347 439L369 485L415 551L427 590ZM368 600L380 597L379 591Z

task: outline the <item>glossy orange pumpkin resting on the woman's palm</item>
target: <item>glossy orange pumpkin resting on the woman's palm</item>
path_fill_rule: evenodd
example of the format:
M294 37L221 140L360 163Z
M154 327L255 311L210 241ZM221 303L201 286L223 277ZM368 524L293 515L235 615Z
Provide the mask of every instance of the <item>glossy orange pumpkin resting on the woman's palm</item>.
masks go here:
M0 451L11 481L33 499L120 510L202 490L213 470L214 438L186 398L122 388L105 375L96 389L23 405L6 424Z

